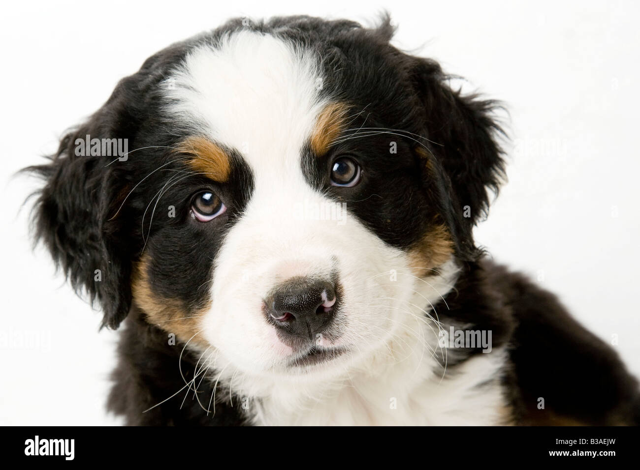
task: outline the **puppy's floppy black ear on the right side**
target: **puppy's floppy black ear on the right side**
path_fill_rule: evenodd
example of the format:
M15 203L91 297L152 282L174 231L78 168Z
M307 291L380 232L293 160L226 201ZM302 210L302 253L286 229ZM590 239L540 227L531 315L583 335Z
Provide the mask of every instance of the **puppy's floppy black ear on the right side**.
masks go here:
M501 109L494 100L463 96L449 86L449 76L429 59L412 58L412 77L424 109L424 132L435 164L449 187L449 214L462 237L463 251L472 253L474 225L486 215L490 192L497 194L504 178L504 160L496 137L504 135L495 121Z

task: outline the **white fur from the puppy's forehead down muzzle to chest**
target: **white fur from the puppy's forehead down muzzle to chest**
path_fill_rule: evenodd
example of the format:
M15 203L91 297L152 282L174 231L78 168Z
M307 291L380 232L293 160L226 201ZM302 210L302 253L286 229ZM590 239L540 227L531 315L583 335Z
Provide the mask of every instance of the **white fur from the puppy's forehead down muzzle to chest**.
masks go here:
M263 425L495 423L499 387L475 386L497 377L501 354L481 354L454 377L433 357L445 351L427 315L435 317L431 305L452 288L454 263L417 279L409 256L367 230L348 206L339 222L296 216L296 204L331 203L307 184L300 164L326 105L317 58L241 31L189 54L172 79L173 115L236 148L255 176L248 207L215 260L212 308L202 322L212 345L204 361L220 371L216 381L246 398L238 403L248 418ZM296 352L266 322L262 299L291 276L327 278L332 269L344 288L335 319L341 336L322 345L348 353L292 370L285 364Z

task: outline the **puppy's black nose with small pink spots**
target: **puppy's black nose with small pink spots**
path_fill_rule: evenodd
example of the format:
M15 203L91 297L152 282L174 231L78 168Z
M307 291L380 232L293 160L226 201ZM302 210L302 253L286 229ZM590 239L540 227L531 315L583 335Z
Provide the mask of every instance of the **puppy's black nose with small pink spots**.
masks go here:
M337 302L332 282L308 278L289 279L265 301L277 327L311 340L330 324Z

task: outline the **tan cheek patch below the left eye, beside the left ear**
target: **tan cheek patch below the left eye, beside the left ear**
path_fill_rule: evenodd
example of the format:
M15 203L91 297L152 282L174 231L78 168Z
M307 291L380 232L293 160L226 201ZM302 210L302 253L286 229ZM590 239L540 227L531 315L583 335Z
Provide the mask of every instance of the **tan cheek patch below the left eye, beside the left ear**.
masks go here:
M202 333L198 332L202 329L202 315L209 307L189 309L182 301L166 299L156 294L148 280L148 264L148 256L143 255L134 266L131 281L134 304L145 314L150 324L175 334L182 343L189 341L190 345L208 347Z

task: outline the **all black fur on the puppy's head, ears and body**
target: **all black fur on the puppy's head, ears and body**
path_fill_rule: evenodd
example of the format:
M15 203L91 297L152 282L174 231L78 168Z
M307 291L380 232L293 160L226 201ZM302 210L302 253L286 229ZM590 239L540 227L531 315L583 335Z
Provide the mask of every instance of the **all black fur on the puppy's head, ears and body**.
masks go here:
M131 275L144 251L152 254L148 275L154 292L189 308L207 300L206 290L191 287L209 280L223 237L250 198L253 176L232 149L236 153L227 183L194 176L175 178L165 186L170 172L187 169L184 156L173 149L182 137L197 133L198 123L180 128L168 119L161 81L196 45L215 44L223 33L246 27L319 52L328 77L323 93L348 102L355 113L367 110L356 116L352 127L366 123L400 134L394 137L398 150L393 159L375 150L388 147L388 135L381 134L368 137L368 150L345 141L318 158L307 148L303 170L310 184L348 201L349 210L392 246L409 249L431 224L446 226L463 276L446 298L450 309L444 320L490 329L494 347L508 346L505 386L516 423L637 424L637 382L616 353L577 324L553 295L492 265L474 243L472 229L486 214L490 194L498 191L504 173L497 144L502 131L493 118L499 104L461 95L437 63L392 47L388 18L375 29L310 17L248 26L231 20L149 58L139 72L118 84L90 120L63 137L50 162L27 169L45 180L35 208L36 237L49 247L72 285L100 303L104 325L115 329L129 315L109 408L132 425L244 423L243 413L237 404L231 406L224 390L217 397L214 418L191 397L181 409L176 399L163 402L184 386L176 368L179 361L186 377L193 377L198 357L188 349L181 355L182 347L167 347L166 332L132 306ZM129 150L141 150L131 152L126 162L77 157L74 142L87 134L127 138ZM328 187L327 165L337 153L366 162L362 184L348 191ZM186 215L189 198L204 187L236 201L206 226ZM180 215L170 219L154 214L152 219L156 198L174 205ZM465 216L466 207L470 217ZM97 269L101 281L94 280ZM188 272L188 278L175 276L179 272ZM477 353L465 351L456 361ZM450 366L454 373L455 363ZM197 395L209 397L205 382ZM536 407L538 397L545 398L544 410Z

